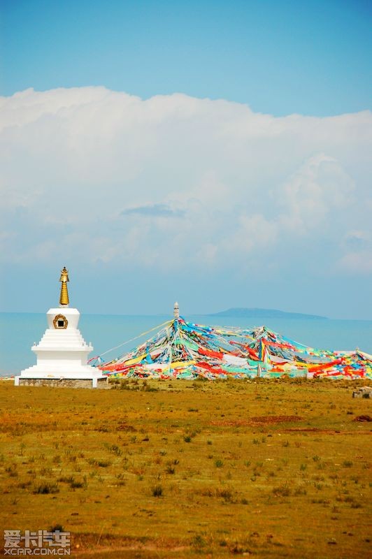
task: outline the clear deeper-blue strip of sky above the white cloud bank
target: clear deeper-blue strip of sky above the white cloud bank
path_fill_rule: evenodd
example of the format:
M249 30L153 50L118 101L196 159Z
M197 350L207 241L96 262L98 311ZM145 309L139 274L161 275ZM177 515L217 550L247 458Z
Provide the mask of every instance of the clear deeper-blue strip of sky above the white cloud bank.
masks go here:
M1 0L1 94L104 85L328 116L371 103L371 2Z

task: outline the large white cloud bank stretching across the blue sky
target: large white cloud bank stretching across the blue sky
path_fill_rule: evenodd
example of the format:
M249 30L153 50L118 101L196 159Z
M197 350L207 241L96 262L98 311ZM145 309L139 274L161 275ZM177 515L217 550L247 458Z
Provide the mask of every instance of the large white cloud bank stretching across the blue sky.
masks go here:
M345 238L371 231L371 112L276 118L84 87L1 98L0 122L3 261L296 267L299 242L327 238L329 268L369 262Z

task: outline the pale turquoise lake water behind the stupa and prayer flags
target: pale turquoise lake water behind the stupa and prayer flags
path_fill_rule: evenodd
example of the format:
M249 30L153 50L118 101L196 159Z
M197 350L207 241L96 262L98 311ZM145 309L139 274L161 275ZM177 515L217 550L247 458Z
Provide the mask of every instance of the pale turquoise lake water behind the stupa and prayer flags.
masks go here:
M80 317L79 328L86 342L92 342L94 351L90 356L100 355L122 342L150 330L169 315L127 316L115 314L85 314ZM372 354L372 321L313 320L313 319L236 319L234 317L208 317L189 315L187 321L218 326L262 326L287 337L324 349L355 349ZM16 375L22 369L34 365L36 356L31 345L39 342L47 327L45 314L0 313L0 376ZM155 333L141 336L138 340L111 351L105 361L126 353L139 342Z

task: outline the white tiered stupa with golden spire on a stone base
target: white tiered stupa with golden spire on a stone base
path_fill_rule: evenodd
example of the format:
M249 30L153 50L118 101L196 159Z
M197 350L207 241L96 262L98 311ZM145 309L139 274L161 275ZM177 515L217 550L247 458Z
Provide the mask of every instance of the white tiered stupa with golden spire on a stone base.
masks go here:
M105 386L107 378L100 370L87 365L92 351L78 330L80 312L69 308L69 271L63 268L59 308L47 312L48 328L38 344L31 347L36 353L36 365L22 370L15 377L15 385L41 385L90 387Z

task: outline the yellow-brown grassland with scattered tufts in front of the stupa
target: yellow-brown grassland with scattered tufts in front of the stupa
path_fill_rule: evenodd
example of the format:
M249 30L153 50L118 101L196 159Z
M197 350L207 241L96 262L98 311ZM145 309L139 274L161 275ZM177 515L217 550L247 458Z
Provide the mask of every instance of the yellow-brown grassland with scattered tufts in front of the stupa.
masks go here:
M0 528L63 527L81 559L366 558L355 385L2 382Z

